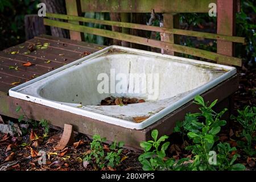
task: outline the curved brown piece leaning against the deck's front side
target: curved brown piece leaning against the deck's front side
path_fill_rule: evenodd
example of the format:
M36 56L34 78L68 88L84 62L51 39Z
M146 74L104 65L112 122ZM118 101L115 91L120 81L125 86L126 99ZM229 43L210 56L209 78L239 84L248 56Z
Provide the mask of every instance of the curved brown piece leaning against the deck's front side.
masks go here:
M67 145L72 145L75 142L74 133L73 133L73 126L64 124L64 131L62 137L54 148L55 150L63 150Z

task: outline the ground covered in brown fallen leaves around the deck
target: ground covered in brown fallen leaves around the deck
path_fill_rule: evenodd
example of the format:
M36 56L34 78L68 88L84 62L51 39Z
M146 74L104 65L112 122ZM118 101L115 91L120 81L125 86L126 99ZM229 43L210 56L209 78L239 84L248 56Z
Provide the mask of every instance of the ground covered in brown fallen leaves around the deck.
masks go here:
M256 105L256 68L243 67L238 69L240 76L240 88L234 95L234 109L242 109L245 105ZM15 119L4 118L5 121L18 123ZM27 129L27 134L22 137L10 137L0 133L0 169L2 170L97 170L91 164L84 166L82 159L86 152L90 151L91 140L84 134L75 133L75 141L73 146L67 146L63 151L55 151L54 147L59 142L63 130L50 129L47 138L35 143L31 140L30 126ZM241 132L242 128L238 123L231 122L229 128L224 128L221 131L220 137L225 142L229 142L232 146L236 146L236 134ZM34 129L33 133L38 136L43 135L43 129L40 127ZM177 134L171 135L171 147L168 150L169 156L176 158L189 157L190 154L184 152L184 143L180 143L180 138ZM256 147L256 146L255 146ZM108 151L108 145L104 146L105 152ZM38 164L38 152L42 150L47 154L47 162L44 165ZM238 149L238 154L241 155L238 162L246 165L247 170L255 170L255 158L248 158L241 150ZM142 170L141 164L138 162L139 152L126 150L122 152L121 158L124 160L121 164L113 168L104 168L104 170ZM4 164L4 165L3 165ZM5 167L6 164L11 164Z

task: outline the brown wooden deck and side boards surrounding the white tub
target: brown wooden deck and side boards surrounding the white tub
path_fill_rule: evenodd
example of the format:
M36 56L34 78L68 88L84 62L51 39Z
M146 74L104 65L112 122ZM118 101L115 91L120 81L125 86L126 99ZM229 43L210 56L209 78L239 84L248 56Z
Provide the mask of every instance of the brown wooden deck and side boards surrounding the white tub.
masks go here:
M27 46L31 43L49 43L47 49L33 51L28 55ZM21 113L16 113L17 105L22 106L26 115L35 120L47 119L53 125L63 127L64 123L73 125L76 131L92 136L100 134L109 140L121 140L126 147L139 148L142 140L150 139L151 130L158 129L159 135L171 134L176 121L183 121L185 113L197 111L197 106L192 102L180 107L176 111L160 119L160 121L148 126L143 130L131 130L124 127L112 125L92 118L82 117L53 109L51 107L35 104L28 101L19 100L8 96L8 90L18 84L43 75L53 69L71 63L88 53L102 49L97 44L77 42L69 39L53 38L42 35L15 47L5 49L0 52L0 114L13 118L18 118ZM19 52L11 54L11 52ZM31 62L33 65L24 67L23 64ZM48 62L49 63L48 63ZM9 69L10 66L18 67L18 70ZM208 90L203 94L205 100L213 101L218 98L217 109L230 108L230 96L238 89L238 77L233 76L222 82L220 85ZM14 83L18 84L14 84ZM13 85L12 85L13 84Z

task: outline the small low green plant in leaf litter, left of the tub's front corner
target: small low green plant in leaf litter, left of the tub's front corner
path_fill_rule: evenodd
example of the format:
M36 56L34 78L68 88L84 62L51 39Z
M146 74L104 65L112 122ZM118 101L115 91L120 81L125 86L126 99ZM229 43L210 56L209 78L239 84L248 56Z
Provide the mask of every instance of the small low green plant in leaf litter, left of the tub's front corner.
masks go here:
M93 135L93 140L90 143L90 154L85 155L84 161L95 161L97 167L104 168L105 166L116 167L121 163L121 153L123 142L113 142L109 147L109 152L104 152L102 142L106 142L106 138L101 138L100 135Z

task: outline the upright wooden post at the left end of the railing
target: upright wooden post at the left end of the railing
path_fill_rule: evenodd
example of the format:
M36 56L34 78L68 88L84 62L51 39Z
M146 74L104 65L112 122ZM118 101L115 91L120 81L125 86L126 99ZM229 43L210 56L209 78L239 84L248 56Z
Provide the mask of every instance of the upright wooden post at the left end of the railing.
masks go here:
M66 3L66 10L68 15L76 15L76 16L81 15L81 5L79 0L65 0L65 3ZM69 23L79 24L79 22L73 22L73 21L69 21ZM78 41L81 41L83 37L80 32L76 32L76 31L69 31L69 35L72 40L78 40Z

